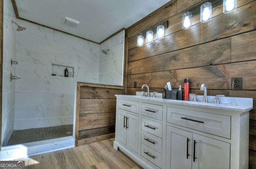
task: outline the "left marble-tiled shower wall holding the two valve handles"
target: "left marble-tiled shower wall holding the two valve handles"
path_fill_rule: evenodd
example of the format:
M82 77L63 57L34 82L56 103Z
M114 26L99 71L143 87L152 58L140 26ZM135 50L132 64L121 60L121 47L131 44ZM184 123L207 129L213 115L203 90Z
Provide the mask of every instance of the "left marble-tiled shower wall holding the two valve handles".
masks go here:
M11 0L4 0L4 43L3 43L3 88L2 88L2 146L7 145L14 130L15 81L10 81L10 73L16 75L11 59L16 60L16 20Z

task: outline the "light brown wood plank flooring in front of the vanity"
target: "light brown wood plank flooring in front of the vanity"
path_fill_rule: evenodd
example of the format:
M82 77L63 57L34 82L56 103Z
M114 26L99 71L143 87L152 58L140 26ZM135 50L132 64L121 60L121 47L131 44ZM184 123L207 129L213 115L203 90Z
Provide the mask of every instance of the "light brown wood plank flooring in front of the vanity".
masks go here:
M17 161L26 169L142 169L120 150L113 148L114 138L55 151Z

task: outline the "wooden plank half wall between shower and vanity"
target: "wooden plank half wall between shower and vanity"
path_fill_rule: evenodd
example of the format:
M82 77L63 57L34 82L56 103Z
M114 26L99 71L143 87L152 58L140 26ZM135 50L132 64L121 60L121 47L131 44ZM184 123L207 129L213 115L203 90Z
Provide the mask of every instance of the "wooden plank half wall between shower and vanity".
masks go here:
M76 146L115 137L116 96L122 86L77 83Z

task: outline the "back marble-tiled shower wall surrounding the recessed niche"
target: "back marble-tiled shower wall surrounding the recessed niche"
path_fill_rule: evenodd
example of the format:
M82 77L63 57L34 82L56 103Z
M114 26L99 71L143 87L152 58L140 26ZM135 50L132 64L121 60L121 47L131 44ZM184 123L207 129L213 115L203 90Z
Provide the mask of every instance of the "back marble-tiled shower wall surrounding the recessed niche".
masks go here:
M77 81L99 83L100 45L23 20L17 32L15 130L73 124ZM54 64L54 66L53 66ZM64 76L64 69L74 77Z

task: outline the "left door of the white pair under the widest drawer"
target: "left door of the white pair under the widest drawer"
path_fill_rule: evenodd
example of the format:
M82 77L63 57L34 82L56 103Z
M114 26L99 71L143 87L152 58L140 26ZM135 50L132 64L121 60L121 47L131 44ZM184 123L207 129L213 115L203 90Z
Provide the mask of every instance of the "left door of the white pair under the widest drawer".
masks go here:
M192 133L167 126L166 136L166 169L191 169Z

